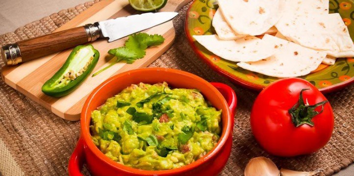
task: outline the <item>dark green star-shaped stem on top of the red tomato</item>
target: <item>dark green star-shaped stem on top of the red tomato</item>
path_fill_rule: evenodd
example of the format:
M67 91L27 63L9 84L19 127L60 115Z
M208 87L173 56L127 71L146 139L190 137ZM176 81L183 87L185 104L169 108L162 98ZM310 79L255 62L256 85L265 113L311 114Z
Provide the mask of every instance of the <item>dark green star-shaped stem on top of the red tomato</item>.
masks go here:
M320 103L317 103L315 105L309 105L306 101L306 104L303 102L303 91L308 90L308 88L304 88L300 92L300 97L298 103L296 103L290 110L289 113L291 115L291 121L296 127L299 127L303 124L307 124L311 127L314 126L312 122L312 118L315 117L316 115L320 114L323 109L325 104L328 102L323 101ZM319 106L322 106L321 111L316 111L315 109Z

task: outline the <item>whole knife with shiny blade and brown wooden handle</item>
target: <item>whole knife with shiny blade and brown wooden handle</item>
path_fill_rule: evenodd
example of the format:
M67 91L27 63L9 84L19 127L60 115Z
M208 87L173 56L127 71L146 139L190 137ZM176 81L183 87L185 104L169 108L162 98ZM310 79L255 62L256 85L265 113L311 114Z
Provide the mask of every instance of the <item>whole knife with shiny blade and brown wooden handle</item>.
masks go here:
M167 22L177 12L144 13L110 19L52 34L7 44L1 47L1 58L6 65L17 65L80 44L108 38L108 42Z

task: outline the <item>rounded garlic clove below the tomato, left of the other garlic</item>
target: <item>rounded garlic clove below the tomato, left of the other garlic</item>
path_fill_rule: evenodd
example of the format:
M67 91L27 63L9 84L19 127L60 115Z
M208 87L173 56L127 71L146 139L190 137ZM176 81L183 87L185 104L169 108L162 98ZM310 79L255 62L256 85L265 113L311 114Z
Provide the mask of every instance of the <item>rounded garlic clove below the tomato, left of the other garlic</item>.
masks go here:
M269 158L260 156L252 158L246 165L245 176L280 176L276 164Z

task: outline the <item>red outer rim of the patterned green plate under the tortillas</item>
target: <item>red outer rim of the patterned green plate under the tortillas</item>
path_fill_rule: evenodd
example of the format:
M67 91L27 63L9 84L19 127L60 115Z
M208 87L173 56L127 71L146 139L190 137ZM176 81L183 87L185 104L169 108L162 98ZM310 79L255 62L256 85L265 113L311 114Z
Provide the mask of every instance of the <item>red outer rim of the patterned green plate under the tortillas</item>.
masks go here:
M198 0L194 0L192 2L192 4L188 7L188 10L186 12L186 17L185 17L185 20L184 20L184 33L187 37L187 41L189 43L189 45L192 47L194 53L197 54L197 56L199 58L201 58L208 66L210 66L213 70L215 70L216 72L220 73L221 75L225 76L226 78L228 78L230 81L240 85L240 86L243 86L245 88L249 88L249 89L253 89L253 90L256 90L256 91L261 91L263 90L264 88L268 87L268 86L261 86L261 85L258 85L258 84L255 84L251 81L247 81L247 80L243 80L231 73L229 73L228 71L224 70L223 68L220 68L219 66L213 64L208 58L206 58L203 54L202 54L202 51L200 49L198 49L198 47L196 46L195 44L195 41L193 40L193 37L191 35L191 33L189 32L189 23L188 23L188 18L189 18L189 14L190 14L190 11L193 7L193 5L195 5L196 3L200 3ZM336 91L336 90L339 90L341 88L344 88L344 87L347 87L347 86L350 86L354 84L354 77L352 77L351 79L347 80L347 81L344 81L344 82L341 82L341 83L337 83L337 84L334 84L334 85L331 85L331 86L328 86L328 87L325 87L325 88L319 88L319 90L322 92L322 93L330 93L330 92L333 92L333 91Z

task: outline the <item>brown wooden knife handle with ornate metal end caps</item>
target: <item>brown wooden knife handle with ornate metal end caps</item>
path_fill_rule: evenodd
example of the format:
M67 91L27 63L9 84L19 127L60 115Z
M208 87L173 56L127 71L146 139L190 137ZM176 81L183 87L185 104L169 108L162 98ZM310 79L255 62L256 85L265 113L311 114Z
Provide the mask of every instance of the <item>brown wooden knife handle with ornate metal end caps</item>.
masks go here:
M2 47L1 55L5 64L16 65L95 41L99 37L100 29L98 24L86 24L85 26L20 41L16 44L8 44Z

